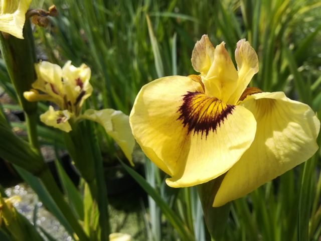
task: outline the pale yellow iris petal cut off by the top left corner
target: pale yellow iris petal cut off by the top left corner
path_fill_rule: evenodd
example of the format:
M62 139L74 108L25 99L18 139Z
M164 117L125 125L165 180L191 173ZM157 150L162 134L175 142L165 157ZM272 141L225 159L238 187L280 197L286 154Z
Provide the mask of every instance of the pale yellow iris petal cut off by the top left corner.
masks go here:
M31 0L0 1L0 31L23 39L26 13Z

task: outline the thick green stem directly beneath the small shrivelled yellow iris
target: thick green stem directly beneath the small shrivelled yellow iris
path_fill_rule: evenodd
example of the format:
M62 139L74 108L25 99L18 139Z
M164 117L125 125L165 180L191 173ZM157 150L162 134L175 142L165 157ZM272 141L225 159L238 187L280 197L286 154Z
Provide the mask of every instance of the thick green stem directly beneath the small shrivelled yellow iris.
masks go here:
M90 121L73 122L72 131L65 134L67 149L82 177L88 183L93 202L99 209L101 239L108 240L110 233L107 187L103 160L94 124ZM91 228L96 228L92 227Z

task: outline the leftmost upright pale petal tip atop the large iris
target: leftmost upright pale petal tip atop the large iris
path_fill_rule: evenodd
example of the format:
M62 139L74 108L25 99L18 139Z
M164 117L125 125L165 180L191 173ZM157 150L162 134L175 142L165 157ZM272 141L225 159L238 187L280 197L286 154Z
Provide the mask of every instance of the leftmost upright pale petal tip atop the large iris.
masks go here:
M202 38L196 42L192 52L192 65L196 72L201 75L206 75L214 61L214 51L209 37L203 35Z

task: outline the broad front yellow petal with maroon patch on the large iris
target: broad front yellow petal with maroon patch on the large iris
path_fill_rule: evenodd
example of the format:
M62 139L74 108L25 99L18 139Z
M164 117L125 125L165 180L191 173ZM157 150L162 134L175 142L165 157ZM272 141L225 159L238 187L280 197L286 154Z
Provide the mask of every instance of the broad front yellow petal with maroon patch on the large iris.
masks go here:
M147 157L172 176L172 187L226 172L251 145L256 127L250 111L205 95L201 84L182 76L143 86L130 124Z

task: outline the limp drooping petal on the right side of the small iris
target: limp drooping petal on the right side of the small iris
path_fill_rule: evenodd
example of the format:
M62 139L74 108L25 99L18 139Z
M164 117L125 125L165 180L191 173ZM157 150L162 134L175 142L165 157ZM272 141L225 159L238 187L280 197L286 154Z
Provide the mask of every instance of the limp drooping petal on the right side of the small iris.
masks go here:
M106 133L114 139L124 152L130 164L134 165L131 154L135 146L135 140L131 134L128 115L114 109L87 109L84 114L78 116L78 119L81 118L90 119L103 126Z

